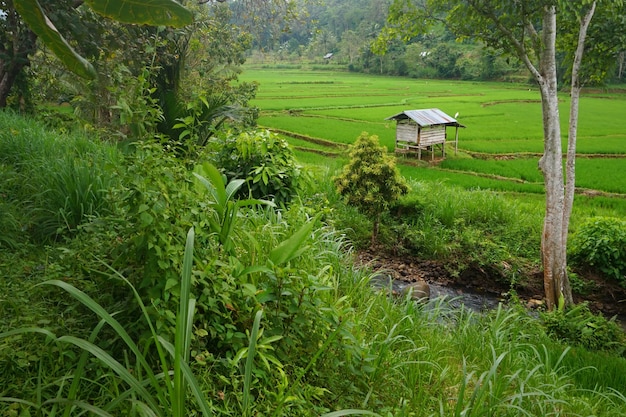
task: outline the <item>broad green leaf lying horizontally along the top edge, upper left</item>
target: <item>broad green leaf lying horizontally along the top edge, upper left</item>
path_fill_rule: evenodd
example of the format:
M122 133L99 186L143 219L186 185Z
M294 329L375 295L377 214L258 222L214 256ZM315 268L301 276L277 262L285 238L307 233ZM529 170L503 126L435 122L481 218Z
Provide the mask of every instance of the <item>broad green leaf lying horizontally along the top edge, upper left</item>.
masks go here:
M95 12L122 23L182 27L193 14L174 0L86 0Z

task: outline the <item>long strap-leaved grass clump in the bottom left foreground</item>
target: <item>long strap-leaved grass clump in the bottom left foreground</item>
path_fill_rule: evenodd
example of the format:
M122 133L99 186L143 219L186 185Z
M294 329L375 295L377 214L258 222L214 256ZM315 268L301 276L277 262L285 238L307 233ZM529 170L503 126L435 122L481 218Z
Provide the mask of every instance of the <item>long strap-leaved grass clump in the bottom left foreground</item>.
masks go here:
M188 364L192 322L195 309L195 299L191 297L193 240L194 231L193 229L190 229L187 234L187 241L185 245L183 271L181 274L180 304L177 314L173 344L165 340L156 332L148 309L143 304L139 293L137 293L132 284L117 271L113 271L113 274L124 281L133 291L135 300L140 306L142 316L149 326L150 337L143 348L135 343L126 329L124 329L124 327L113 317L112 314L107 312L101 305L84 292L64 281L52 280L44 283L46 285L56 286L65 290L82 305L100 317L102 320L101 324L94 329L89 339L83 339L75 336L56 337L45 329L19 329L16 331L9 331L0 334L0 339L17 333L38 332L46 334L59 344L74 345L83 352L91 354L105 369L108 369L111 374L114 374L116 379L115 385L121 388L122 391L116 395L116 398L111 399L108 404L104 406L90 404L89 400L81 401L75 399L78 398L78 383L75 382L76 380L81 380L81 384L88 383L90 381L94 383L94 376L86 373L85 359L83 355L81 356L77 368L72 375L72 383L68 388L67 397L63 397L64 387L62 385L59 389L57 397L43 401L41 406L52 406L54 408L57 403L66 403L67 407L70 408L78 407L97 415L109 416L112 415L111 413L119 412L121 407L127 405L129 406L129 409L134 410L134 412L139 415L183 417L188 416L190 413L187 406L189 389L193 394L197 407L199 407L198 411L204 416L212 415L211 406L207 402L204 393L202 392L200 385ZM134 370L133 372L128 369L129 366L127 364L120 362L110 353L106 352L94 343L96 335L99 333L100 327L103 323L106 323L114 330L116 336L124 342L126 348L132 353L132 357L136 361L131 365ZM158 370L153 368L147 357L148 352L150 351L150 346L154 346L156 348L158 357L157 363L160 368ZM127 361L130 361L130 358L127 358ZM122 388L122 383L126 384L127 388ZM12 398L2 398L2 400L14 401ZM19 402L31 406L37 406L37 408L39 408L38 404L27 400L19 400ZM66 408L65 415L69 415L70 408Z

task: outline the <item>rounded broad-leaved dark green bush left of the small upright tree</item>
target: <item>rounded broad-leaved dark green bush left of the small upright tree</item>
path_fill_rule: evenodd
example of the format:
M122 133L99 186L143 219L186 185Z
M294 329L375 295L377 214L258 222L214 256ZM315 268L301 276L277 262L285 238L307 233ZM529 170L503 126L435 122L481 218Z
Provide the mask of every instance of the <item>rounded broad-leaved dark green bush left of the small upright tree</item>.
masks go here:
M287 204L306 185L307 177L287 142L267 130L229 136L215 146L215 163L226 177L245 180L238 198Z

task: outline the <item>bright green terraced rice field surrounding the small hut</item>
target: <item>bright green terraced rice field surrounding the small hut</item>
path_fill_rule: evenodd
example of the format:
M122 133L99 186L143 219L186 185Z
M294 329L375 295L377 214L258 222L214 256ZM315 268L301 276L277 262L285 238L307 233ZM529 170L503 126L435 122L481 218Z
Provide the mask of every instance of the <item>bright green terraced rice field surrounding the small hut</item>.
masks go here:
M543 192L537 168L543 152L541 97L531 84L254 67L245 67L241 79L259 83L252 103L261 110L259 125L300 136L289 139L299 152L311 148L336 154L339 149L324 149L306 138L348 145L363 131L377 135L393 152L395 122L385 119L403 110L437 107L451 116L458 114L457 120L466 126L459 132L459 152L448 144L446 159L435 165L399 158L404 175L465 188ZM560 111L565 151L569 116L565 90ZM621 175L626 172L626 90L583 93L577 153L577 187L626 195Z

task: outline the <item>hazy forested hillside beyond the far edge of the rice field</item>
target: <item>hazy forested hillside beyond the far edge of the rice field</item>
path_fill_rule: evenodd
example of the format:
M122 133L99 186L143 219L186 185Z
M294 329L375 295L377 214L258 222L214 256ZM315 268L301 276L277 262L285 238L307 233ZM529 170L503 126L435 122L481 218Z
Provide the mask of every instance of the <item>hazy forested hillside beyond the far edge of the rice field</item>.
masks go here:
M471 39L459 41L443 25L406 43L395 40L385 55L376 55L371 45L385 24L390 3L391 0L302 0L292 11L293 20L268 20L257 25L248 61L338 64L355 72L414 78L530 80L516 59ZM233 2L231 7L234 15L239 16L238 3ZM623 83L625 64L622 52L607 81ZM567 82L565 70L560 74Z

